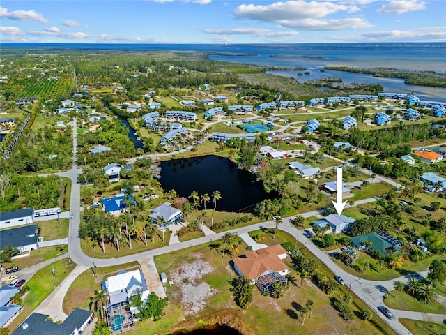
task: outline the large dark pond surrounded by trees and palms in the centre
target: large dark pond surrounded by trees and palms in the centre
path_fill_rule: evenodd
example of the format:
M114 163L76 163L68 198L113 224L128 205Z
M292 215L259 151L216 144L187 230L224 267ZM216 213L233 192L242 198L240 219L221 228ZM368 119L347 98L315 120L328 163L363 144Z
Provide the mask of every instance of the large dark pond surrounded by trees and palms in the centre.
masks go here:
M254 211L256 204L275 193L266 193L256 176L240 170L236 163L218 156L181 158L161 163L160 183L164 190L174 189L178 196L189 197L192 191L199 195L208 193L208 209L213 208L212 194L220 191L217 211L247 213Z

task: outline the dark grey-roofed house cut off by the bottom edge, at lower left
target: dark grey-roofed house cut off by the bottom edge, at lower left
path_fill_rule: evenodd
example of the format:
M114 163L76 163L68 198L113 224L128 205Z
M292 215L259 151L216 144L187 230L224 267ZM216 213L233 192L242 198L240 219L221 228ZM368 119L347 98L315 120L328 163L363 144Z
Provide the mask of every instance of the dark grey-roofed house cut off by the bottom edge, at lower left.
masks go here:
M75 308L63 322L54 322L49 315L32 313L11 335L75 335L89 325L93 311Z

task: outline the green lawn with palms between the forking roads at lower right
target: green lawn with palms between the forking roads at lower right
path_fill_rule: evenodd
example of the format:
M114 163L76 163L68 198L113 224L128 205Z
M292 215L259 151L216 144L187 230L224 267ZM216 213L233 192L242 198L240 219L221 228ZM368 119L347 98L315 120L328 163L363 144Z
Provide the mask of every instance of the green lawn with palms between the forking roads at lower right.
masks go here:
M415 311L446 315L446 306L443 306L438 301L435 301L433 304L429 305L418 301L414 297L408 295L406 292L399 292L398 295L396 293L397 291L390 291L389 297L384 299L384 303L390 308L401 309L401 311ZM396 298L395 295L397 295Z

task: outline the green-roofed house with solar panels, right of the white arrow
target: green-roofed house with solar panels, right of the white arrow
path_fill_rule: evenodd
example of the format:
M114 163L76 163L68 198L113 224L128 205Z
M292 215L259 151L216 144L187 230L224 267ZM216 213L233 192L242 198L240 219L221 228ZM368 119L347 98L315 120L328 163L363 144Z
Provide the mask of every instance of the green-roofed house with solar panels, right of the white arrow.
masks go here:
M367 248L364 244L366 241L371 241L369 249L380 251L383 255L399 251L403 246L401 241L394 239L386 232L369 232L369 234L351 237L351 246L357 250L364 250Z

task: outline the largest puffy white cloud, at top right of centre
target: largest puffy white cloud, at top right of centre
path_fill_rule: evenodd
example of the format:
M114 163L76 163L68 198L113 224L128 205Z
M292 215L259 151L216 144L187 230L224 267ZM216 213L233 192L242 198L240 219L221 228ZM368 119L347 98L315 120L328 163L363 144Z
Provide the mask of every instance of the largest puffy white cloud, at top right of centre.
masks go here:
M278 23L282 27L302 30L340 30L373 27L363 18L323 20L337 12L353 12L359 8L327 1L286 1L270 5L240 5L234 10L236 17Z

